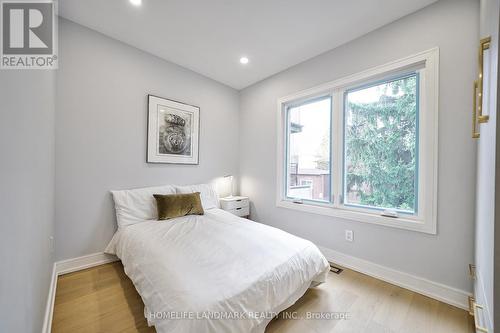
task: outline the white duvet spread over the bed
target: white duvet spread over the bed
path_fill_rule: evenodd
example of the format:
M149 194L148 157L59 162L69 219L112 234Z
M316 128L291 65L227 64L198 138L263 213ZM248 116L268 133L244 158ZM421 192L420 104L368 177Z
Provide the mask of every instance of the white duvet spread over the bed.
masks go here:
M106 252L158 333L264 332L329 271L313 243L220 209L120 227Z

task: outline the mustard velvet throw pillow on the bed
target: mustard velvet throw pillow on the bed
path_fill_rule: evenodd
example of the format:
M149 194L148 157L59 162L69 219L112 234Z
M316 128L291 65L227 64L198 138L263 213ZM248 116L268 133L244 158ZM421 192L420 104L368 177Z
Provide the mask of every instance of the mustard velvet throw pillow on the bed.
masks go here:
M186 215L203 215L200 192L186 194L154 194L158 220Z

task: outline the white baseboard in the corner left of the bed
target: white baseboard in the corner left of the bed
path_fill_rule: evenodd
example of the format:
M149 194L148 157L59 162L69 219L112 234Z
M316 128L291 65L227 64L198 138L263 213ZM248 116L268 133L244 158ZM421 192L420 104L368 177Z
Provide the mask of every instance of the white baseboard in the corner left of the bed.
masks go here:
M52 315L54 313L54 301L56 298L57 277L59 275L80 271L82 269L104 265L119 260L116 256L104 252L89 254L83 257L57 261L52 268L49 295L45 308L42 333L50 333L52 330Z

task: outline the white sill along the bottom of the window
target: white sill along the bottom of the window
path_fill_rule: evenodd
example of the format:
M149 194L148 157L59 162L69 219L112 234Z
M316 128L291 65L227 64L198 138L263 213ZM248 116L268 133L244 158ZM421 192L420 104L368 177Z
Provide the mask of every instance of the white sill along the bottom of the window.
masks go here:
M432 223L432 221L426 222L424 220L418 220L415 218L405 218L405 217L393 218L393 217L380 216L377 214L358 212L350 209L338 208L320 204L318 205L310 203L297 204L286 200L278 200L276 202L276 206L280 208L298 210L306 213L338 217L357 222L371 223L386 227L418 231L426 234L435 235L437 233L436 223Z

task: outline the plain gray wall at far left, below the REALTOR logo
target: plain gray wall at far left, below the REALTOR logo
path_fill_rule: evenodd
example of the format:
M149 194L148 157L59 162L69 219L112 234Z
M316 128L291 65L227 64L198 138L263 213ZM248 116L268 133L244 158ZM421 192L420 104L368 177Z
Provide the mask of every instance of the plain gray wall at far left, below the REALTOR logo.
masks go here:
M0 332L42 329L54 259L54 74L0 71Z

